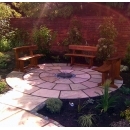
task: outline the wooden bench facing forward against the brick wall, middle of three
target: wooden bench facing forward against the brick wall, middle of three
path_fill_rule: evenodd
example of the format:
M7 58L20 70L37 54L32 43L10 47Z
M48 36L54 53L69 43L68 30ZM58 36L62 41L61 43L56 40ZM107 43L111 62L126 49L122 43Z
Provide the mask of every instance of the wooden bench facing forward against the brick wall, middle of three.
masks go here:
M75 63L75 57L85 57L89 59L88 67L93 66L93 60L96 57L97 47L95 46L86 46L86 45L69 45L70 53L65 54L65 56L71 57L70 65L77 64ZM81 65L81 64L77 64Z

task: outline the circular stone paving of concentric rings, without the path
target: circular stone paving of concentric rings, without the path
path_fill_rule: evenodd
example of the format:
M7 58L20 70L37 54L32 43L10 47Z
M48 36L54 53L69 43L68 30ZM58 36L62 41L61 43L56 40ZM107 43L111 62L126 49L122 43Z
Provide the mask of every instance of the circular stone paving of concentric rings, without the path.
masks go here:
M75 99L102 95L101 73L87 67L67 66L63 63L40 64L40 68L30 69L27 73L13 71L6 81L17 91L45 98ZM72 74L72 77L62 78L58 74ZM122 80L115 80L120 88ZM110 88L110 92L115 91Z

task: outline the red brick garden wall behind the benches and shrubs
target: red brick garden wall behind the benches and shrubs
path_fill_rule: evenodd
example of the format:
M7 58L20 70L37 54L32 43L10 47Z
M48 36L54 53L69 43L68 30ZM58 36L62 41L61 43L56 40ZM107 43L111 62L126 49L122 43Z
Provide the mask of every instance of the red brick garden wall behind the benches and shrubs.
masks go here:
M70 19L57 18L55 20L48 20L45 18L11 18L11 26L25 29L32 33L35 26L46 25L49 29L57 32L57 38L52 45L53 51L63 52L64 48L61 46L62 41L67 36L67 31L70 25L70 20L77 18L82 25L82 36L89 45L96 45L99 36L98 27L102 23L103 17L87 16L87 17L71 17ZM118 37L115 40L117 53L124 57L126 53L127 43L130 41L130 21L123 16L114 18L115 26L118 30Z

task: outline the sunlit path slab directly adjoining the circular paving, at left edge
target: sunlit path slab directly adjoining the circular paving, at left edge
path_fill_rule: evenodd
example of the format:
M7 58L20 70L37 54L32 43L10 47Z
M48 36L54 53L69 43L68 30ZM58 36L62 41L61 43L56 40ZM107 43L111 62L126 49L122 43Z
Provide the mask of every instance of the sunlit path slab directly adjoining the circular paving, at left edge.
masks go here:
M25 110L32 110L45 100L46 98L31 96L15 90L9 91L0 97L0 103L5 103Z

